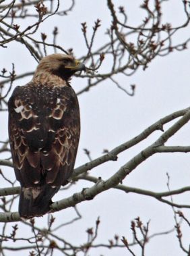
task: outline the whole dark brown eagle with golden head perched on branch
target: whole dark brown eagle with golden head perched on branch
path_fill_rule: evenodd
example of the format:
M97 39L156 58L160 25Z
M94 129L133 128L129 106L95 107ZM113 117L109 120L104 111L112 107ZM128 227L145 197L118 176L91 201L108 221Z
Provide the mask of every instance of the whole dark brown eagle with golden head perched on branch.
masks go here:
M71 76L86 70L73 56L43 57L34 76L16 86L8 101L8 130L20 217L51 211L51 201L71 178L80 139L80 108Z

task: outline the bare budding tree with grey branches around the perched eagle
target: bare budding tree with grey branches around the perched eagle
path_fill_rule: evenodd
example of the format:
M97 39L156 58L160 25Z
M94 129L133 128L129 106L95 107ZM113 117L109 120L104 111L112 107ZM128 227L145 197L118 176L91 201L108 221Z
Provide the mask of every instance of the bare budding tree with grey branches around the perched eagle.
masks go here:
M173 39L177 33L181 32L183 29L187 29L189 26L189 1L179 1L179 6L183 7L181 8L183 23L178 26L173 26L168 23L164 24L162 22L162 5L165 4L164 2L166 1L142 1L140 8L144 9L145 16L142 18L140 24L133 26L128 22L128 16L130 14L125 10L125 6L117 6L117 1L113 0L104 1L102 4L106 5L108 8L111 22L106 29L104 40L100 42L101 45L99 47L96 47L95 41L98 30L100 30L100 26L104 20L100 21L97 19L94 21L91 35L89 33L88 22L81 24L84 38L81 44L83 44L86 50L82 52L81 56L77 57L85 61L88 68L86 74L76 75L78 79L83 79L84 84L84 87L77 92L78 96L91 91L93 87L104 84L103 82L106 80L115 84L123 93L134 96L135 84L131 84L129 88L121 86L118 80L119 75L123 77L132 76L139 68L146 70L148 66L150 66L151 61L157 57L164 57L175 51L187 49L190 41L188 36L186 39L183 38L178 42L175 40L175 43L173 43ZM25 57L27 59L34 59L36 63L38 63L44 55L49 53L62 52L75 55L73 49L65 49L64 45L59 41L61 28L55 26L53 31L49 32L49 34L39 32L41 27L45 26L46 21L49 19L53 20L57 17L65 16L65 22L67 22L67 16L75 11L75 4L75 0L68 0L68 7L65 7L65 1L59 0L1 0L1 51L4 51L7 47L12 47L13 44L21 44L23 49L25 48L28 51L28 55ZM80 4L83 5L83 2L81 1ZM102 63L106 63L106 72L102 72ZM34 70L16 74L15 64L12 63L11 65L11 70L7 70L7 68L3 66L3 59L1 59L0 110L2 114L7 111L7 100L9 99L15 82L18 84L22 78L29 79L30 76L34 74ZM101 88L99 88L99 90L101 90ZM63 196L63 199L53 203L53 205L51 205L52 213L50 213L47 218L46 228L41 228L34 219L30 221L21 220L18 212L12 211L14 205L18 202L17 199L20 193L20 187L15 186L13 175L11 178L7 176L7 167L11 168L9 172L13 173L13 164L10 157L9 141L7 138L2 137L0 141L0 153L2 155L0 159L0 174L1 180L3 180L3 184L6 184L6 187L0 189L0 222L3 223L0 234L0 255L9 255L10 251L27 251L28 254L24 255L30 256L57 255L57 251L63 255L79 255L79 253L82 253L80 255L90 255L90 250L97 250L100 247L106 247L108 249L123 247L126 253L128 253L126 255L135 255L133 251L134 245L139 247L141 255L146 255L146 245L154 236L162 236L170 232L177 232L179 247L185 255L190 255L189 248L183 245L181 221L183 220L187 227L189 227L190 224L183 212L181 210L179 211L179 209L190 208L190 205L175 203L172 199L174 195L180 195L190 191L190 186L182 187L177 190L170 189L169 175L167 182L168 190L160 193L122 184L126 176L131 174L137 166L141 165L142 162L156 153L189 152L190 146L165 145L168 139L181 130L189 120L190 110L189 107L187 107L186 109L170 113L168 116L156 121L134 138L123 142L121 145L117 145L114 149L110 151L104 150L104 154L96 159L92 159L90 151L85 149L84 153L88 156L89 161L75 168L71 183L62 188L62 190L75 189L75 184L79 180L85 180L89 182L89 184L91 182L93 185L84 188L80 193L71 193L67 198ZM137 151L134 157L121 165L115 174L110 175L106 180L102 180L101 177L96 176L95 172L93 176L90 174L90 170L103 163L117 161L117 157L120 153L146 140L156 130L160 130L162 134L158 135L154 143L150 145L147 143L147 146L143 150L140 152ZM67 225L74 225L74 222L82 218L82 214L78 211L77 205L82 201L88 203L88 200L94 199L96 195L110 188L122 190L124 193L136 193L144 195L144 197L152 197L156 201L169 205L169 207L172 207L175 216L174 228L151 235L150 222L144 224L140 217L134 216L134 220L131 222L131 232L133 235L131 242L128 241L125 234L121 234L121 237L117 234L113 234L113 238L110 238L108 242L96 243L98 228L100 226L100 218L98 217L94 228L88 228L88 230L86 230L87 237L83 245L75 245L75 242L69 241L69 239L63 238L59 232L57 233L57 230L59 231ZM61 220L59 220L59 225L55 226L53 213L55 211L63 211L63 209L68 207L73 207L76 216L70 222L61 222ZM16 222L16 224L11 224L11 222ZM20 226L28 230L23 236L18 235L18 228L20 228Z

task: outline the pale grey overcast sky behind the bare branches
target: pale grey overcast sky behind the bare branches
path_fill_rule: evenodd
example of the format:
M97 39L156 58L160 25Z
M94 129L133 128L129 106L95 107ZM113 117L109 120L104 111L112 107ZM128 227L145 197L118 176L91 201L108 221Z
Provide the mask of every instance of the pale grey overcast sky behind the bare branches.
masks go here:
M69 2L69 1L68 1ZM170 0L164 3L166 15L164 19L167 22L174 22L176 26L183 21L183 11L179 8L179 0ZM144 18L144 14L137 9L141 1L115 1L117 6L124 5L129 14L129 24L135 26ZM47 20L42 26L40 32L53 30L54 26L59 26L59 44L65 49L73 48L76 57L84 54L86 49L84 39L82 38L81 22L88 22L89 30L92 32L94 21L99 18L102 26L98 32L95 47L98 48L102 42L106 42L104 33L110 24L109 11L106 7L106 1L83 0L76 1L73 11L65 17L53 18ZM24 25L23 25L24 26ZM69 28L69 29L68 29ZM175 37L175 41L181 43L183 38L187 39L189 30L184 30ZM7 49L1 51L1 69L11 67L15 63L16 72L23 73L32 71L36 67L36 62L22 46L11 44ZM53 53L49 51L49 53ZM88 161L84 155L84 148L90 150L92 158L99 157L103 149L111 150L121 143L133 138L133 136L142 132L145 128L163 118L173 111L183 109L190 105L190 85L189 85L189 50L172 53L166 57L157 57L150 63L149 68L144 72L141 69L126 78L118 76L117 79L125 88L130 84L136 84L134 97L129 97L123 91L120 91L113 83L106 80L96 88L92 88L89 93L84 93L79 97L80 111L82 120L82 134L80 138L80 147L77 154L75 166L82 165ZM101 71L106 70L106 59L102 64ZM28 82L23 79L23 84ZM80 91L83 88L83 80L73 78L73 88ZM15 85L18 85L15 82ZM21 85L21 84L20 84ZM7 113L1 113L3 126L1 129L1 138L4 140L7 136ZM168 127L168 126L166 126ZM167 145L190 145L189 136L190 125L181 129ZM117 162L109 162L94 168L90 174L106 179L114 174L119 167L129 161L131 157L139 153L148 145L154 142L161 134L155 132L148 140L137 145L133 149L119 155ZM172 189L189 186L190 182L190 156L189 153L164 153L154 155L148 161L139 165L123 182L127 186L144 188L156 192L167 190L166 172L170 174L170 186ZM11 171L12 172L12 171ZM18 185L18 184L17 184ZM58 193L54 201L63 197L68 197L82 188L91 186L88 182L77 182L71 190ZM188 195L188 196L187 196ZM178 203L189 203L189 194L174 197ZM155 199L143 197L141 195L125 194L117 190L109 190L98 195L92 201L86 201L77 206L82 214L82 220L71 226L63 228L63 236L72 240L74 245L82 244L86 238L86 229L95 225L95 221L100 216L100 229L96 243L107 242L115 234L129 238L131 242L130 221L135 217L141 217L146 224L150 220L150 234L169 230L175 226L171 207L158 203ZM15 211L17 205L15 205ZM190 218L189 211L183 211ZM73 209L65 209L57 216L59 220L68 221L74 216ZM42 218L38 220L42 222ZM185 233L186 232L186 233ZM189 230L183 233L185 245L188 247ZM138 255L138 249L135 249ZM10 253L11 255L11 253ZM20 254L25 255L25 253ZM57 256L61 255L59 253ZM129 255L125 249L98 249L92 250L90 256L97 255ZM150 240L146 247L146 256L182 256L184 253L179 249L179 244L175 232L168 236L160 236Z

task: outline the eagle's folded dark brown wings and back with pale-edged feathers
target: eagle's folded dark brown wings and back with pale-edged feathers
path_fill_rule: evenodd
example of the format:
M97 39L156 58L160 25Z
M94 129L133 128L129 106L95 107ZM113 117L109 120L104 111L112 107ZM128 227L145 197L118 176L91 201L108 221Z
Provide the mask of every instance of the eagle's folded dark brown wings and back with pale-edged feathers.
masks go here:
M60 186L71 176L80 137L73 89L18 86L9 99L9 139L22 186Z

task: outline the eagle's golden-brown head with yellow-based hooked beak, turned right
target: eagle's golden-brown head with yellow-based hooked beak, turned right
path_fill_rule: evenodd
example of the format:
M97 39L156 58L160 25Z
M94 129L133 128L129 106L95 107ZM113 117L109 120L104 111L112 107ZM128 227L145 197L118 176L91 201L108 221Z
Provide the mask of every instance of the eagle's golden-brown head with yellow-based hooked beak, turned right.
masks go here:
M86 70L84 63L74 59L71 55L52 54L43 57L36 69L36 73L54 74L68 80L75 72Z

